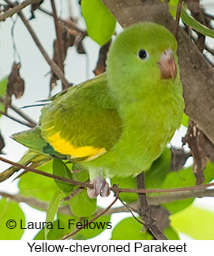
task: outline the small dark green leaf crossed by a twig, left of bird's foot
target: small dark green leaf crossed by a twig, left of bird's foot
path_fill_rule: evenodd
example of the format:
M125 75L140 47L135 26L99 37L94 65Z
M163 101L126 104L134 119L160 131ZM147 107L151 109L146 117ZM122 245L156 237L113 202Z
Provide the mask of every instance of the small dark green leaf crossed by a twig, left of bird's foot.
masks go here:
M69 178L73 179L73 175L71 173L71 170L66 166L66 164L60 160L60 159L54 159L53 160L53 174L64 177L64 178ZM56 182L56 185L58 185L58 188L61 189L63 192L71 192L74 188L74 185L68 184L66 182L54 180Z

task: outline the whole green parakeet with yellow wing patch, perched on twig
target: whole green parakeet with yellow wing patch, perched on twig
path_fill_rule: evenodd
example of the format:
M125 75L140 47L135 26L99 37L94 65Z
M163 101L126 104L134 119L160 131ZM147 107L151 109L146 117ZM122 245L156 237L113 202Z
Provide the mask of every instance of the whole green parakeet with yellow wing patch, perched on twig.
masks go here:
M88 196L108 196L104 178L148 170L181 124L176 50L175 36L163 26L130 26L112 43L106 73L51 98L38 126L14 138L81 163L94 185ZM31 134L38 138L36 149L26 142Z

